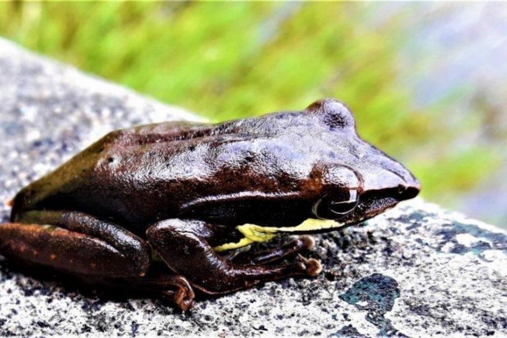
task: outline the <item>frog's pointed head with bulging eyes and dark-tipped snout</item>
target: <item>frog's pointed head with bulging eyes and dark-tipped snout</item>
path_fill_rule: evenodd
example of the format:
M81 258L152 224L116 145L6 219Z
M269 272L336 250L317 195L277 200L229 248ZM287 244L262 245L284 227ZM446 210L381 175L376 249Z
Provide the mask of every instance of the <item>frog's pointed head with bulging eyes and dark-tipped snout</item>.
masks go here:
M326 99L313 103L307 111L318 118L325 130L321 138L331 144L315 169L321 187L312 208L315 217L354 224L417 196L418 180L358 136L346 105Z

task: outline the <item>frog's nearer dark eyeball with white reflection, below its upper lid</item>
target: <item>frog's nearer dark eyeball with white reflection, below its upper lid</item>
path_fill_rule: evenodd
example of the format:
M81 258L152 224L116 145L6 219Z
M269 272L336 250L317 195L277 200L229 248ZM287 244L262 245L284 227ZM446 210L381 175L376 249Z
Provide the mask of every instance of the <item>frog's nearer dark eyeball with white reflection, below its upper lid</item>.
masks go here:
M321 219L338 219L356 209L357 190L349 190L348 196L325 196L313 205L313 214Z

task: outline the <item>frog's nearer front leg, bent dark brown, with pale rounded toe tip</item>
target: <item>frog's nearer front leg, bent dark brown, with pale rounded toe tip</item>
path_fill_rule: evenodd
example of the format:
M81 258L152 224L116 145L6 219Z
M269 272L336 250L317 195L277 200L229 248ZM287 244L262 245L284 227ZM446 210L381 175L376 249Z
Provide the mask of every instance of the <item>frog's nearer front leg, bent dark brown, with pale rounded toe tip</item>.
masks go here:
M186 276L208 294L224 294L255 284L291 276L315 276L320 263L315 259L270 266L239 264L218 255L210 242L220 231L198 220L168 219L147 230L153 249L177 274Z

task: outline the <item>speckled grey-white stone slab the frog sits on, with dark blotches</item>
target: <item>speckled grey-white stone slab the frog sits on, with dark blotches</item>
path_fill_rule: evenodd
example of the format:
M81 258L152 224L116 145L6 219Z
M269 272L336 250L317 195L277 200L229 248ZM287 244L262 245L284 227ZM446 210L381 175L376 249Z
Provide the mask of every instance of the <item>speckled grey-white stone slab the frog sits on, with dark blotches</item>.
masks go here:
M5 40L0 102L2 201L109 130L196 119ZM507 334L507 234L497 228L416 199L316 241L317 278L201 300L188 314L28 277L0 259L0 335Z

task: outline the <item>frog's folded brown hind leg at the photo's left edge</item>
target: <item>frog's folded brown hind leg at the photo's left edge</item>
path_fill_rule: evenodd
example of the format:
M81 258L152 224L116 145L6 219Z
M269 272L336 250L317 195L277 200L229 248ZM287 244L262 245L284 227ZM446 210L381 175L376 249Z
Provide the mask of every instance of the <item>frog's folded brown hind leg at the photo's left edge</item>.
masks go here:
M2 255L104 278L144 276L150 265L147 243L115 224L62 211L29 212L20 220L0 224Z

